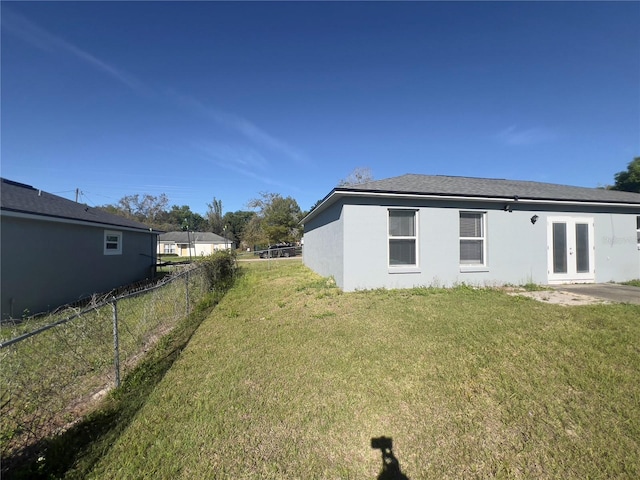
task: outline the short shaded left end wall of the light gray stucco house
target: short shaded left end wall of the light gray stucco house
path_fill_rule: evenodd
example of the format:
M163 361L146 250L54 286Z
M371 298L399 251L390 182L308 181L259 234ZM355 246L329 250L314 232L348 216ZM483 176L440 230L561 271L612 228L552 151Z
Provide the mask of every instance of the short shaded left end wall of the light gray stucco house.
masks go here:
M304 225L304 264L344 288L344 218L336 202Z

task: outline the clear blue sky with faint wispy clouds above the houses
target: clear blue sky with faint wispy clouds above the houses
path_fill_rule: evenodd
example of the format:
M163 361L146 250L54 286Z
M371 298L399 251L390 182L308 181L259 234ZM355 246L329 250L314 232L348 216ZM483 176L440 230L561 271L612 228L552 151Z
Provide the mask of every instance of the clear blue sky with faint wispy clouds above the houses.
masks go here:
M5 178L303 210L356 167L597 187L640 156L640 3L6 2Z

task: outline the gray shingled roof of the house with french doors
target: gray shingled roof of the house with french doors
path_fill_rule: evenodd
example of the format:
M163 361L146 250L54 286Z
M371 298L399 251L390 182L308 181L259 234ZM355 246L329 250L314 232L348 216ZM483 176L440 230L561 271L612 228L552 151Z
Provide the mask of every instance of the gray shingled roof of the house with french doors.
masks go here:
M460 197L514 198L572 202L626 203L640 205L640 194L601 188L571 187L553 183L491 178L407 174L360 185L338 187L340 191L407 193Z

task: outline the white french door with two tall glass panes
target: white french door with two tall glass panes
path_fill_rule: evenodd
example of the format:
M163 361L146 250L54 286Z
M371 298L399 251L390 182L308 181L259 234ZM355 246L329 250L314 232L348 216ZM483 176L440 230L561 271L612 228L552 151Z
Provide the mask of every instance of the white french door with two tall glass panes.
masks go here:
M593 282L593 218L549 217L547 251L549 283Z

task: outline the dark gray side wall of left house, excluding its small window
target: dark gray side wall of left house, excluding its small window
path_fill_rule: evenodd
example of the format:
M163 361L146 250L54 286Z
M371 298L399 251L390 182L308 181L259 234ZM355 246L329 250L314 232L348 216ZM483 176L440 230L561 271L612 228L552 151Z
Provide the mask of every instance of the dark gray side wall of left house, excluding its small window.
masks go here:
M104 231L122 231L122 255L104 255ZM1 314L20 317L149 278L149 233L2 216Z

